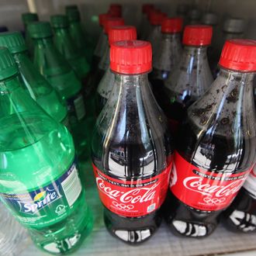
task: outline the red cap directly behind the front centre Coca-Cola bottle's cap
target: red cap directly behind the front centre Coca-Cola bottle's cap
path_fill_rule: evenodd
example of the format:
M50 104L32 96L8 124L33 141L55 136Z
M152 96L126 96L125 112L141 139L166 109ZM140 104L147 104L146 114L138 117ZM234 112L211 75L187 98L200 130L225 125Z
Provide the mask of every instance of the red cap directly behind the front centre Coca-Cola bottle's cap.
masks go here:
M109 29L110 45L123 40L137 40L137 31L135 26L112 26Z

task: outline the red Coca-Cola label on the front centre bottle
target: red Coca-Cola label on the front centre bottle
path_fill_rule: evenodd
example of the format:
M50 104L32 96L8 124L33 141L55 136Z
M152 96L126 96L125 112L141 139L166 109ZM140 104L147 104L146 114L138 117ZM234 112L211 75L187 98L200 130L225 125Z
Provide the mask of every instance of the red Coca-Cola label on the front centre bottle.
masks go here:
M152 213L164 202L171 165L153 178L127 182L103 174L92 164L99 198L112 213L122 216L137 217Z

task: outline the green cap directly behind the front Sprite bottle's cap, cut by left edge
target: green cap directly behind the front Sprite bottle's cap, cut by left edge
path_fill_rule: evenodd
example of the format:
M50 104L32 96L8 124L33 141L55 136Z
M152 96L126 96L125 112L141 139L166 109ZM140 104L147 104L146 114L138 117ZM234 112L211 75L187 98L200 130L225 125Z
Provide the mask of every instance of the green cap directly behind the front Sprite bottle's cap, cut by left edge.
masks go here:
M27 50L25 40L18 31L0 33L0 46L8 48L11 54Z

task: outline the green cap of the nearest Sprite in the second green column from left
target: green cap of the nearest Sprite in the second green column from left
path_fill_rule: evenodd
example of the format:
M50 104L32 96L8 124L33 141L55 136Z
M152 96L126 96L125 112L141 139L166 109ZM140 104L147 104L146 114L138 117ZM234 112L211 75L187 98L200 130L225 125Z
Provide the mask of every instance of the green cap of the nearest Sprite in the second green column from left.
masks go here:
M53 36L50 22L31 22L28 26L29 35L32 38L45 38Z

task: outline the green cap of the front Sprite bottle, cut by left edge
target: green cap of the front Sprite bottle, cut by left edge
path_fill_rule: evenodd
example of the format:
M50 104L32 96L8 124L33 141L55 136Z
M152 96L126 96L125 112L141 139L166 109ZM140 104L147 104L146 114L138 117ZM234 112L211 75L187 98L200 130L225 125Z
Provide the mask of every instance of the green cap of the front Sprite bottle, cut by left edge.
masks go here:
M18 72L18 67L10 53L5 47L0 47L0 80L10 78Z

